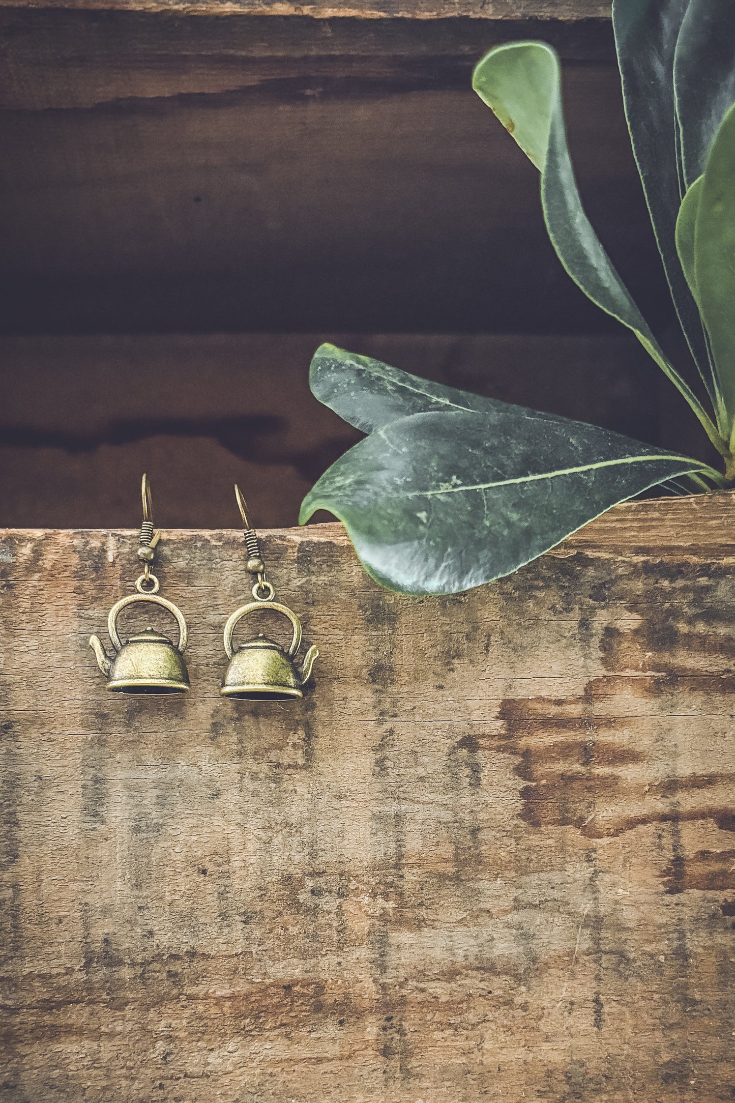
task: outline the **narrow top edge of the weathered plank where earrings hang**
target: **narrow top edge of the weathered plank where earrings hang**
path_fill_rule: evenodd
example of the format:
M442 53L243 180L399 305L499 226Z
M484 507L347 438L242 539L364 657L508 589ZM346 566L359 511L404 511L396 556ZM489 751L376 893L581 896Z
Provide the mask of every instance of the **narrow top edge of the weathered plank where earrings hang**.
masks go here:
M613 506L602 516L591 521L568 539L547 553L552 556L568 556L575 553L642 555L653 558L677 556L684 558L735 557L735 491L716 491L712 494L696 494L690 497L647 499L642 502L623 502ZM108 533L119 536L134 536L134 529L100 528L0 528L0 540L9 537L26 536L40 539L51 534L68 537L72 534L104 538ZM206 528L162 528L164 537L181 536L187 539L201 538L221 540L238 529ZM268 538L293 543L324 543L341 547L350 546L349 537L339 522L305 525L293 528L264 528L261 535Z

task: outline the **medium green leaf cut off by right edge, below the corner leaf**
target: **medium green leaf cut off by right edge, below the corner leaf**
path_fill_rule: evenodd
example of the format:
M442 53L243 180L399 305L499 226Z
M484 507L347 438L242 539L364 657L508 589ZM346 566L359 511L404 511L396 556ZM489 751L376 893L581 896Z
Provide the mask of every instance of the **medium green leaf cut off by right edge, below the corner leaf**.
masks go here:
M717 130L700 186L694 279L732 429L735 420L735 105Z

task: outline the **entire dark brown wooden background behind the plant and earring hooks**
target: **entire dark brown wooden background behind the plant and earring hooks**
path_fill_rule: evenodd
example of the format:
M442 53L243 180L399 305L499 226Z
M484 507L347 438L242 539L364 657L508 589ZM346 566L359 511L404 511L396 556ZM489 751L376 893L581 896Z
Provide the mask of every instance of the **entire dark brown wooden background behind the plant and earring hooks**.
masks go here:
M1 3L0 522L133 525L147 470L162 524L234 524L236 479L293 524L356 439L323 340L709 456L471 90L518 38L559 49L586 206L687 371L606 4Z

